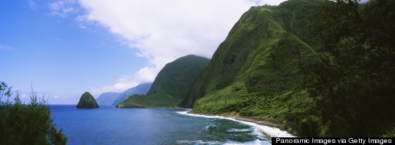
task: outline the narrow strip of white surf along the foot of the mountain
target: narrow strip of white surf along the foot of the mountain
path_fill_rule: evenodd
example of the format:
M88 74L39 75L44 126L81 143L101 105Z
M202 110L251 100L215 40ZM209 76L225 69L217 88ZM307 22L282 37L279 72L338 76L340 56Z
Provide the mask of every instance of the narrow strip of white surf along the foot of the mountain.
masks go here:
M240 123L247 124L249 126L253 126L258 130L258 132L262 133L263 135L266 135L267 137L295 137L294 135L291 135L290 133L280 130L279 128L276 127L270 127L267 126L266 124L270 122L263 122L263 121L255 121L252 119L247 119L247 118L242 118L242 117L223 117L223 116L218 116L218 115L204 115L204 114L194 114L191 112L191 110L188 111L182 111L178 112L179 114L185 114L189 116L195 116L195 117L206 117L206 118L216 118L216 119L228 119L231 121L237 121ZM274 123L270 123L271 125L275 126Z

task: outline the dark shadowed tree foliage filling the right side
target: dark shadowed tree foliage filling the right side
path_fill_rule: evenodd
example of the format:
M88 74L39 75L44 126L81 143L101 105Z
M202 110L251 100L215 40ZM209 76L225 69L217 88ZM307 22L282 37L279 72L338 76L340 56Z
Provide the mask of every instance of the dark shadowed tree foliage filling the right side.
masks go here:
M309 32L319 37L308 92L327 136L379 136L395 126L395 1L325 1ZM391 130L392 128L392 130ZM394 132L392 132L394 133Z

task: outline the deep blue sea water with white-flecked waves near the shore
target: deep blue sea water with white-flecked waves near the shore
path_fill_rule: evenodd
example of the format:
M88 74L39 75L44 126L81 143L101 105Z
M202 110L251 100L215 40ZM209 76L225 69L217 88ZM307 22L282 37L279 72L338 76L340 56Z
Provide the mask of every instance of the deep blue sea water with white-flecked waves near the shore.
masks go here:
M238 121L194 117L182 109L76 109L50 105L67 144L270 144L258 130Z

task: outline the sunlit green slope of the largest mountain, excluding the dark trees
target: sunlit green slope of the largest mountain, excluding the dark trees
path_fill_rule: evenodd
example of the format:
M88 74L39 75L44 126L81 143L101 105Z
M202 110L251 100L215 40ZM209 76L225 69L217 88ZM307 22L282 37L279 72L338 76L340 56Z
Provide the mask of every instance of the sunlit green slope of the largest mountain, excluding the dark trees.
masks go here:
M315 51L278 22L276 7L253 7L231 29L182 107L205 114L293 121L313 107L299 89ZM197 101L196 101L197 100Z

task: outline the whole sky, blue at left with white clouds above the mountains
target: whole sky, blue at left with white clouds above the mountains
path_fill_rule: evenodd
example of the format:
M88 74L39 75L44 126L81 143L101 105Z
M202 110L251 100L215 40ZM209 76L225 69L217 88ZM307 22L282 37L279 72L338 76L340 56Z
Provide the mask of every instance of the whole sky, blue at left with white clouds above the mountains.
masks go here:
M26 103L32 87L51 104L123 92L182 56L211 58L243 12L282 1L0 1L0 81Z

